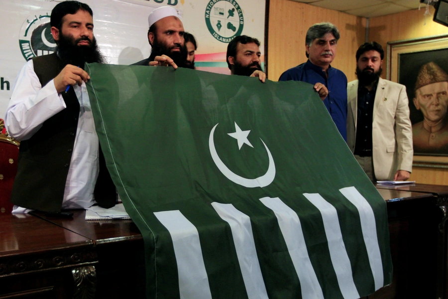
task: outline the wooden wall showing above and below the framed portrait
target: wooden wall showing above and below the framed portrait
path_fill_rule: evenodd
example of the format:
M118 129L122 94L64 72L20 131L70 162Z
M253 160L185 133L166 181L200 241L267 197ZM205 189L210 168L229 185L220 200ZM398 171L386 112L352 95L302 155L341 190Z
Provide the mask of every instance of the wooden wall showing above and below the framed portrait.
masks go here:
M431 16L426 16L426 19L424 7L420 10L414 9L370 18L368 39L369 41L375 40L379 42L386 50L388 41L448 33L448 27L433 21L434 7L430 7L430 12ZM387 57L383 61L384 78L386 65ZM448 157L414 156L414 167L411 174L411 180L415 180L418 183L448 185L447 168L418 166L423 164L447 167Z

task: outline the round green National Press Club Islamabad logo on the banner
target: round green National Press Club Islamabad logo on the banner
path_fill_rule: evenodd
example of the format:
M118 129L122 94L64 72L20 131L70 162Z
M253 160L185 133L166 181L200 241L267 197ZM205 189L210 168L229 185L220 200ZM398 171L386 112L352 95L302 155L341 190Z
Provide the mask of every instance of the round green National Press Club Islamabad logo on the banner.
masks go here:
M205 18L210 33L221 42L229 43L241 35L244 17L236 1L211 0L207 3Z

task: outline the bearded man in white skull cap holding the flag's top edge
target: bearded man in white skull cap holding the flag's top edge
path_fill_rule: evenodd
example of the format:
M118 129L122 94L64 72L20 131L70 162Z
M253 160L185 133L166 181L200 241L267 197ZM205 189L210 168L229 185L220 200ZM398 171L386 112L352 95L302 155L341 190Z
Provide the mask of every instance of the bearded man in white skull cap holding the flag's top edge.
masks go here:
M154 9L148 16L148 24L151 55L134 65L184 67L187 60L185 30L176 8L161 6Z

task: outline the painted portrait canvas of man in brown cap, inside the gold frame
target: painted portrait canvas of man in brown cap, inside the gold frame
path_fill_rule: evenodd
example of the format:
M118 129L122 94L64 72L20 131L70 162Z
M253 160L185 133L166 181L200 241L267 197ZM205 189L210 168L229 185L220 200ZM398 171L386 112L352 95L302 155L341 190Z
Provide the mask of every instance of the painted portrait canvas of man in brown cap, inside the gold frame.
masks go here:
M448 53L401 53L398 83L409 98L414 154L448 155Z

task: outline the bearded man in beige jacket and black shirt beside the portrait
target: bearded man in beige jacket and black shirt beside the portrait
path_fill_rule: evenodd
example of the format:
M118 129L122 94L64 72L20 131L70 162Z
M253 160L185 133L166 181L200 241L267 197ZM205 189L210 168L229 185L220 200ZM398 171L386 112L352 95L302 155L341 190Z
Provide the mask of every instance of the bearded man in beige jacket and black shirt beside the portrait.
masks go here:
M376 42L356 52L358 80L347 85L347 144L372 181L407 180L412 127L404 85L380 78L384 51Z

